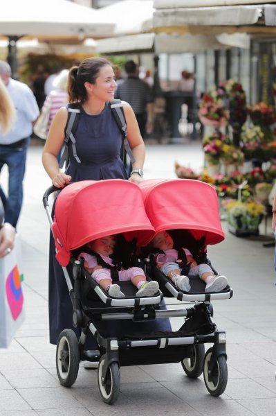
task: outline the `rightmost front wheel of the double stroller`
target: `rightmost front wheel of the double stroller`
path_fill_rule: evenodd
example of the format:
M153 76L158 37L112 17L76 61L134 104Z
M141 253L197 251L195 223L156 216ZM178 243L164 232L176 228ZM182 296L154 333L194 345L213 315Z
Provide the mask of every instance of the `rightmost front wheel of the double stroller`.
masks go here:
M206 388L210 395L220 396L226 390L228 370L226 363L226 356L220 355L217 357L214 368L210 370L210 360L213 349L210 348L205 354L203 376Z

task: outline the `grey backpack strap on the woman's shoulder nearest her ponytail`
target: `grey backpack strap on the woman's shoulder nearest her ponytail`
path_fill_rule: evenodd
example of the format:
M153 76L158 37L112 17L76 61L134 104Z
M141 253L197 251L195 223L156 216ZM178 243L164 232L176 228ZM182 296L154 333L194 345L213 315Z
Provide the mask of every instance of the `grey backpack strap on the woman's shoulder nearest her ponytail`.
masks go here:
M64 129L65 139L64 139L64 150L62 152L62 157L60 158L59 168L62 168L65 162L67 167L68 163L68 146L69 142L72 142L72 150L73 155L77 161L77 163L81 163L79 157L77 156L77 150L75 148L75 130L77 130L77 123L79 122L80 118L80 104L79 103L71 103L67 104L67 111L68 117L66 121L66 126Z

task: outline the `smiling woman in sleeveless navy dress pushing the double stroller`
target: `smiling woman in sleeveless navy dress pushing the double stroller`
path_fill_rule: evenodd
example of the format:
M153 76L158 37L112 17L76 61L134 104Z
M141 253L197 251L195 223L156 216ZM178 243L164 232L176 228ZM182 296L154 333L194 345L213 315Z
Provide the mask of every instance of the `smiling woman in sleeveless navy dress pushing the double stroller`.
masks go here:
M120 159L122 134L109 106L109 101L114 98L115 89L116 82L111 63L104 58L88 58L79 67L73 67L69 71L69 103L79 102L81 105L80 119L75 131L76 151L81 162L77 163L69 146L68 168L65 173L59 172L57 155L64 144L64 128L68 116L66 108L62 107L50 126L42 155L44 168L55 187L62 188L71 181L79 180L127 179L125 166ZM128 103L123 102L122 105L127 120L127 139L136 159L129 180L138 183L142 180L145 144L134 111ZM52 236L50 237L49 315L50 343L56 344L59 333L64 328L72 328L72 305L62 269L55 259ZM111 327L114 325L112 324ZM151 327L166 331L170 329L167 320L163 322L159 320ZM95 340L92 347L94 349L98 347Z

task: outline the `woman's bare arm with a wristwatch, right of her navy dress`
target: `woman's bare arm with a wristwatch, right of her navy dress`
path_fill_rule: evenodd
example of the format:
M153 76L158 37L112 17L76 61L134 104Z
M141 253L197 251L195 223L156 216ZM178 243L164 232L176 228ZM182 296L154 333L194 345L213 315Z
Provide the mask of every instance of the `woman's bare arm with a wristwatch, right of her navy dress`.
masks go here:
M129 141L129 146L135 157L135 162L132 164L132 167L134 169L142 169L145 162L145 143L140 135L139 126L131 105L122 101L122 106L127 120L127 140ZM138 173L134 173L129 180L131 182L139 183L142 180L142 177L140 177Z

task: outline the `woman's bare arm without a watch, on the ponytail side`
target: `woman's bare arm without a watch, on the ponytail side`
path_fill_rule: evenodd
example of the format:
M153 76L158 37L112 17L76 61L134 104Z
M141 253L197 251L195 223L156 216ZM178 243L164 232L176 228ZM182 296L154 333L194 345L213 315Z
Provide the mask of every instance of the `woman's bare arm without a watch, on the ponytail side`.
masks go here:
M62 107L58 110L50 125L50 131L42 153L42 164L44 169L50 176L53 185L57 188L63 188L64 184L68 184L68 182L71 181L70 175L59 172L59 164L57 161L59 150L61 150L64 144L64 129L67 116L68 112L66 107Z

